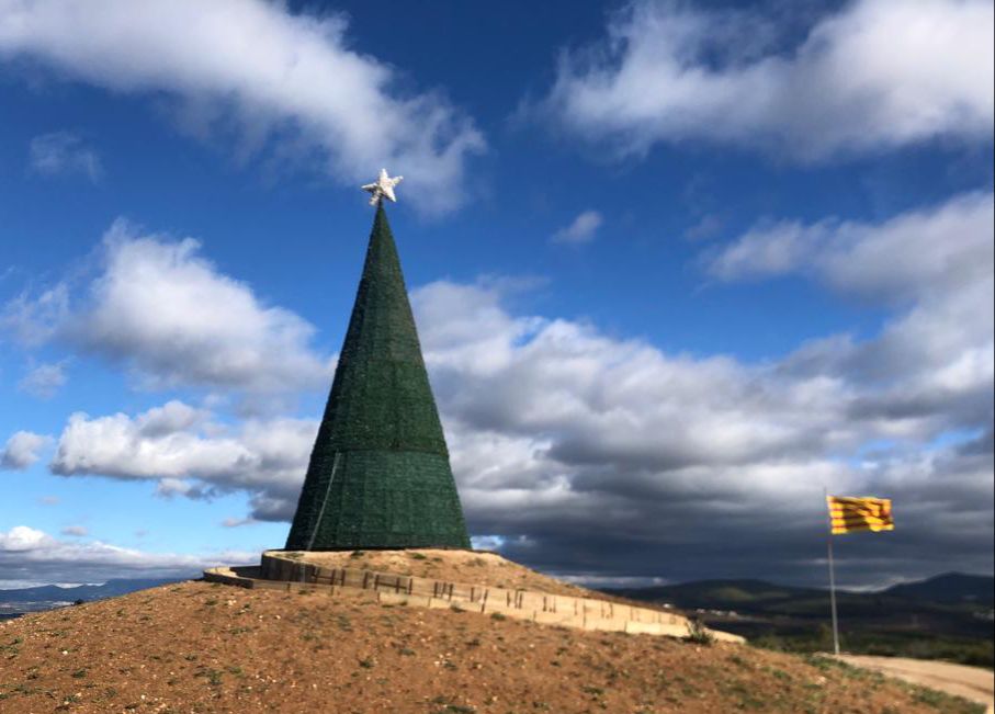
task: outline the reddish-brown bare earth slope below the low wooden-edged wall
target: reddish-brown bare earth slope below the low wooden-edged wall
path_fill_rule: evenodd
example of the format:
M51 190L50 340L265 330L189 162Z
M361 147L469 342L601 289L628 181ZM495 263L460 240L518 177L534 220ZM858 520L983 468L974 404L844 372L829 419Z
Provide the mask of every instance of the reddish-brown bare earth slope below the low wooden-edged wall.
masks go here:
M0 624L4 714L976 711L936 696L828 658L207 582Z

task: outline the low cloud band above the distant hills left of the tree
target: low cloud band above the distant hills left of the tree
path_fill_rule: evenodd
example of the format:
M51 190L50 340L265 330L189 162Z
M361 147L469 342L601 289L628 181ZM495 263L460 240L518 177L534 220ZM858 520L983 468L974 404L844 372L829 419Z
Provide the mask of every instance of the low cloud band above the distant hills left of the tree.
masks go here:
M103 582L121 577L196 577L204 568L258 560L258 553L178 555L146 553L78 537L60 541L27 525L0 531L0 586L21 580Z

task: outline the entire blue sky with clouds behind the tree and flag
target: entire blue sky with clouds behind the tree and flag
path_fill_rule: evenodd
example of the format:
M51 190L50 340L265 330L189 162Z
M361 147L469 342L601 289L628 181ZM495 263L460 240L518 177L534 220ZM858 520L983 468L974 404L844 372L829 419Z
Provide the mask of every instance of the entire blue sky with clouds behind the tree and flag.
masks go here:
M845 583L991 573L992 50L953 0L0 0L0 587L282 545L382 166L480 543L819 582L826 487L895 500Z

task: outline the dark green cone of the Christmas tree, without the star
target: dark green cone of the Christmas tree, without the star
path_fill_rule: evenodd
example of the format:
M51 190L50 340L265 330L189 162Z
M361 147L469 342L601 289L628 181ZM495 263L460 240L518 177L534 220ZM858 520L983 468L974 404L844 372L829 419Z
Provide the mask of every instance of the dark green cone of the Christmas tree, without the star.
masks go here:
M366 262L287 549L470 547L394 236Z

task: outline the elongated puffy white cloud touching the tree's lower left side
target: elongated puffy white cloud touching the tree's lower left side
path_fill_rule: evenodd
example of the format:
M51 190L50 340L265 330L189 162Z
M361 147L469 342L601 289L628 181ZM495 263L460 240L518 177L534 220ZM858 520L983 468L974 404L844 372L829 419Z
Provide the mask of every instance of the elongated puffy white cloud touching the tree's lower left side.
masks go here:
M260 500L260 518L273 518L267 499L279 501L286 517L317 429L309 419L249 420L230 428L180 401L135 417L77 412L59 435L50 468L64 476L155 480L167 497L248 491Z

